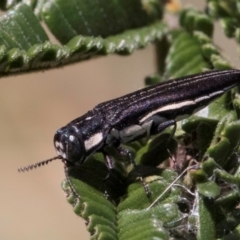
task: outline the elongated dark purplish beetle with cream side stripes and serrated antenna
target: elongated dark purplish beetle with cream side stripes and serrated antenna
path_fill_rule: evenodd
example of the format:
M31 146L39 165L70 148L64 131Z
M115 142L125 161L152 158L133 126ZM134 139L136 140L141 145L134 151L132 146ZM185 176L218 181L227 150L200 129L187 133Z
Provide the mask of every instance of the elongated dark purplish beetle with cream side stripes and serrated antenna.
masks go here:
M112 158L103 150L106 145L128 155L135 164L131 153L121 148L121 143L176 126L177 121L199 111L239 84L240 70L211 71L159 83L103 102L56 132L56 157L18 170L27 171L61 159L66 172L68 166L83 164L95 152L104 154L111 170Z

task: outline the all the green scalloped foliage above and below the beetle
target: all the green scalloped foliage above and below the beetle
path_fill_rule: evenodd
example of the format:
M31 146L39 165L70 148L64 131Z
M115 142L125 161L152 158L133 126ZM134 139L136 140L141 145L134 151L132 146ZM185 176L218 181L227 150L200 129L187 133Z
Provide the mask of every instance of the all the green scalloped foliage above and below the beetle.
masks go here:
M208 0L205 12L182 9L176 28L162 20L166 4L169 1L2 1L1 8L8 11L0 19L0 74L130 54L150 42L156 44L158 69L145 79L146 85L230 69L212 35L219 20L226 36L239 42L239 1ZM42 22L59 44L49 40ZM137 169L111 148L106 151L116 164L108 181L103 182L108 170L100 153L70 168L72 186L69 181L62 186L74 212L86 220L91 239L240 239L239 116L236 89L178 124L170 142L167 130L128 144Z

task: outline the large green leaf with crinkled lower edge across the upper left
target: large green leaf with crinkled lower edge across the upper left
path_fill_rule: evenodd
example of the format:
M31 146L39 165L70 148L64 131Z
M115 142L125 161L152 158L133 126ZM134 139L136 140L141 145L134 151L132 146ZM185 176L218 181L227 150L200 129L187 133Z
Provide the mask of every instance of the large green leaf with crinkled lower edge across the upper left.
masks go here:
M19 3L0 18L0 74L48 69L113 53L130 54L166 34L167 26L160 21L162 12L163 3L158 1ZM40 20L60 44L49 40Z

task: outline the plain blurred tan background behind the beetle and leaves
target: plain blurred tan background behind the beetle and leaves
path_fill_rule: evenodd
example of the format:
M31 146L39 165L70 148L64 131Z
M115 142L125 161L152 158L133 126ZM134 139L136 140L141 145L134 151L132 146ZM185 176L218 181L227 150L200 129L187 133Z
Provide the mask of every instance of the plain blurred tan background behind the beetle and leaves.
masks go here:
M182 1L198 7L204 2ZM226 46L222 37L215 38ZM228 57L238 67L232 43ZM58 128L102 101L143 87L144 77L156 71L154 58L149 46L129 57L108 56L0 79L0 239L89 239L61 189L61 161L28 173L17 168L55 156Z

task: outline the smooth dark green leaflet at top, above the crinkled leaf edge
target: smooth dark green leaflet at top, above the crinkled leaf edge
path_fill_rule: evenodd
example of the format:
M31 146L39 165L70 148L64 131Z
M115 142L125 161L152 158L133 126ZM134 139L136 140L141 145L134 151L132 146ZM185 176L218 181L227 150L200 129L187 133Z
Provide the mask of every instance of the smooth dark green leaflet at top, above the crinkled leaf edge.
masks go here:
M43 18L57 39L67 43L80 34L105 38L145 26L161 18L162 8L158 1L50 0L43 5Z

